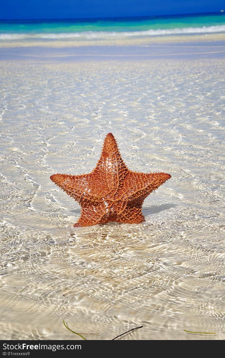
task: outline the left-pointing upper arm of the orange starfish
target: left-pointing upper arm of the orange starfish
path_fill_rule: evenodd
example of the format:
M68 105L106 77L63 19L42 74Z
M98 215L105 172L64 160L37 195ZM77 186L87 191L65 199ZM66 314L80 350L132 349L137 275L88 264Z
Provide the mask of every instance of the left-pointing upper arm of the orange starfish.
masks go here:
M58 185L58 187L63 189L64 192L80 203L87 193L90 176L91 174L71 175L57 173L51 175L50 179Z

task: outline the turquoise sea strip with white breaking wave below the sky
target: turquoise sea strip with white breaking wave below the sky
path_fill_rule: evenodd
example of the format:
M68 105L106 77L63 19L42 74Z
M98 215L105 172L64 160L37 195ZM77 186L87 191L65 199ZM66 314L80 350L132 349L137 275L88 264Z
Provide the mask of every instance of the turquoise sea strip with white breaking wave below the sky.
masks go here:
M225 12L138 18L0 20L1 40L92 39L225 32Z

